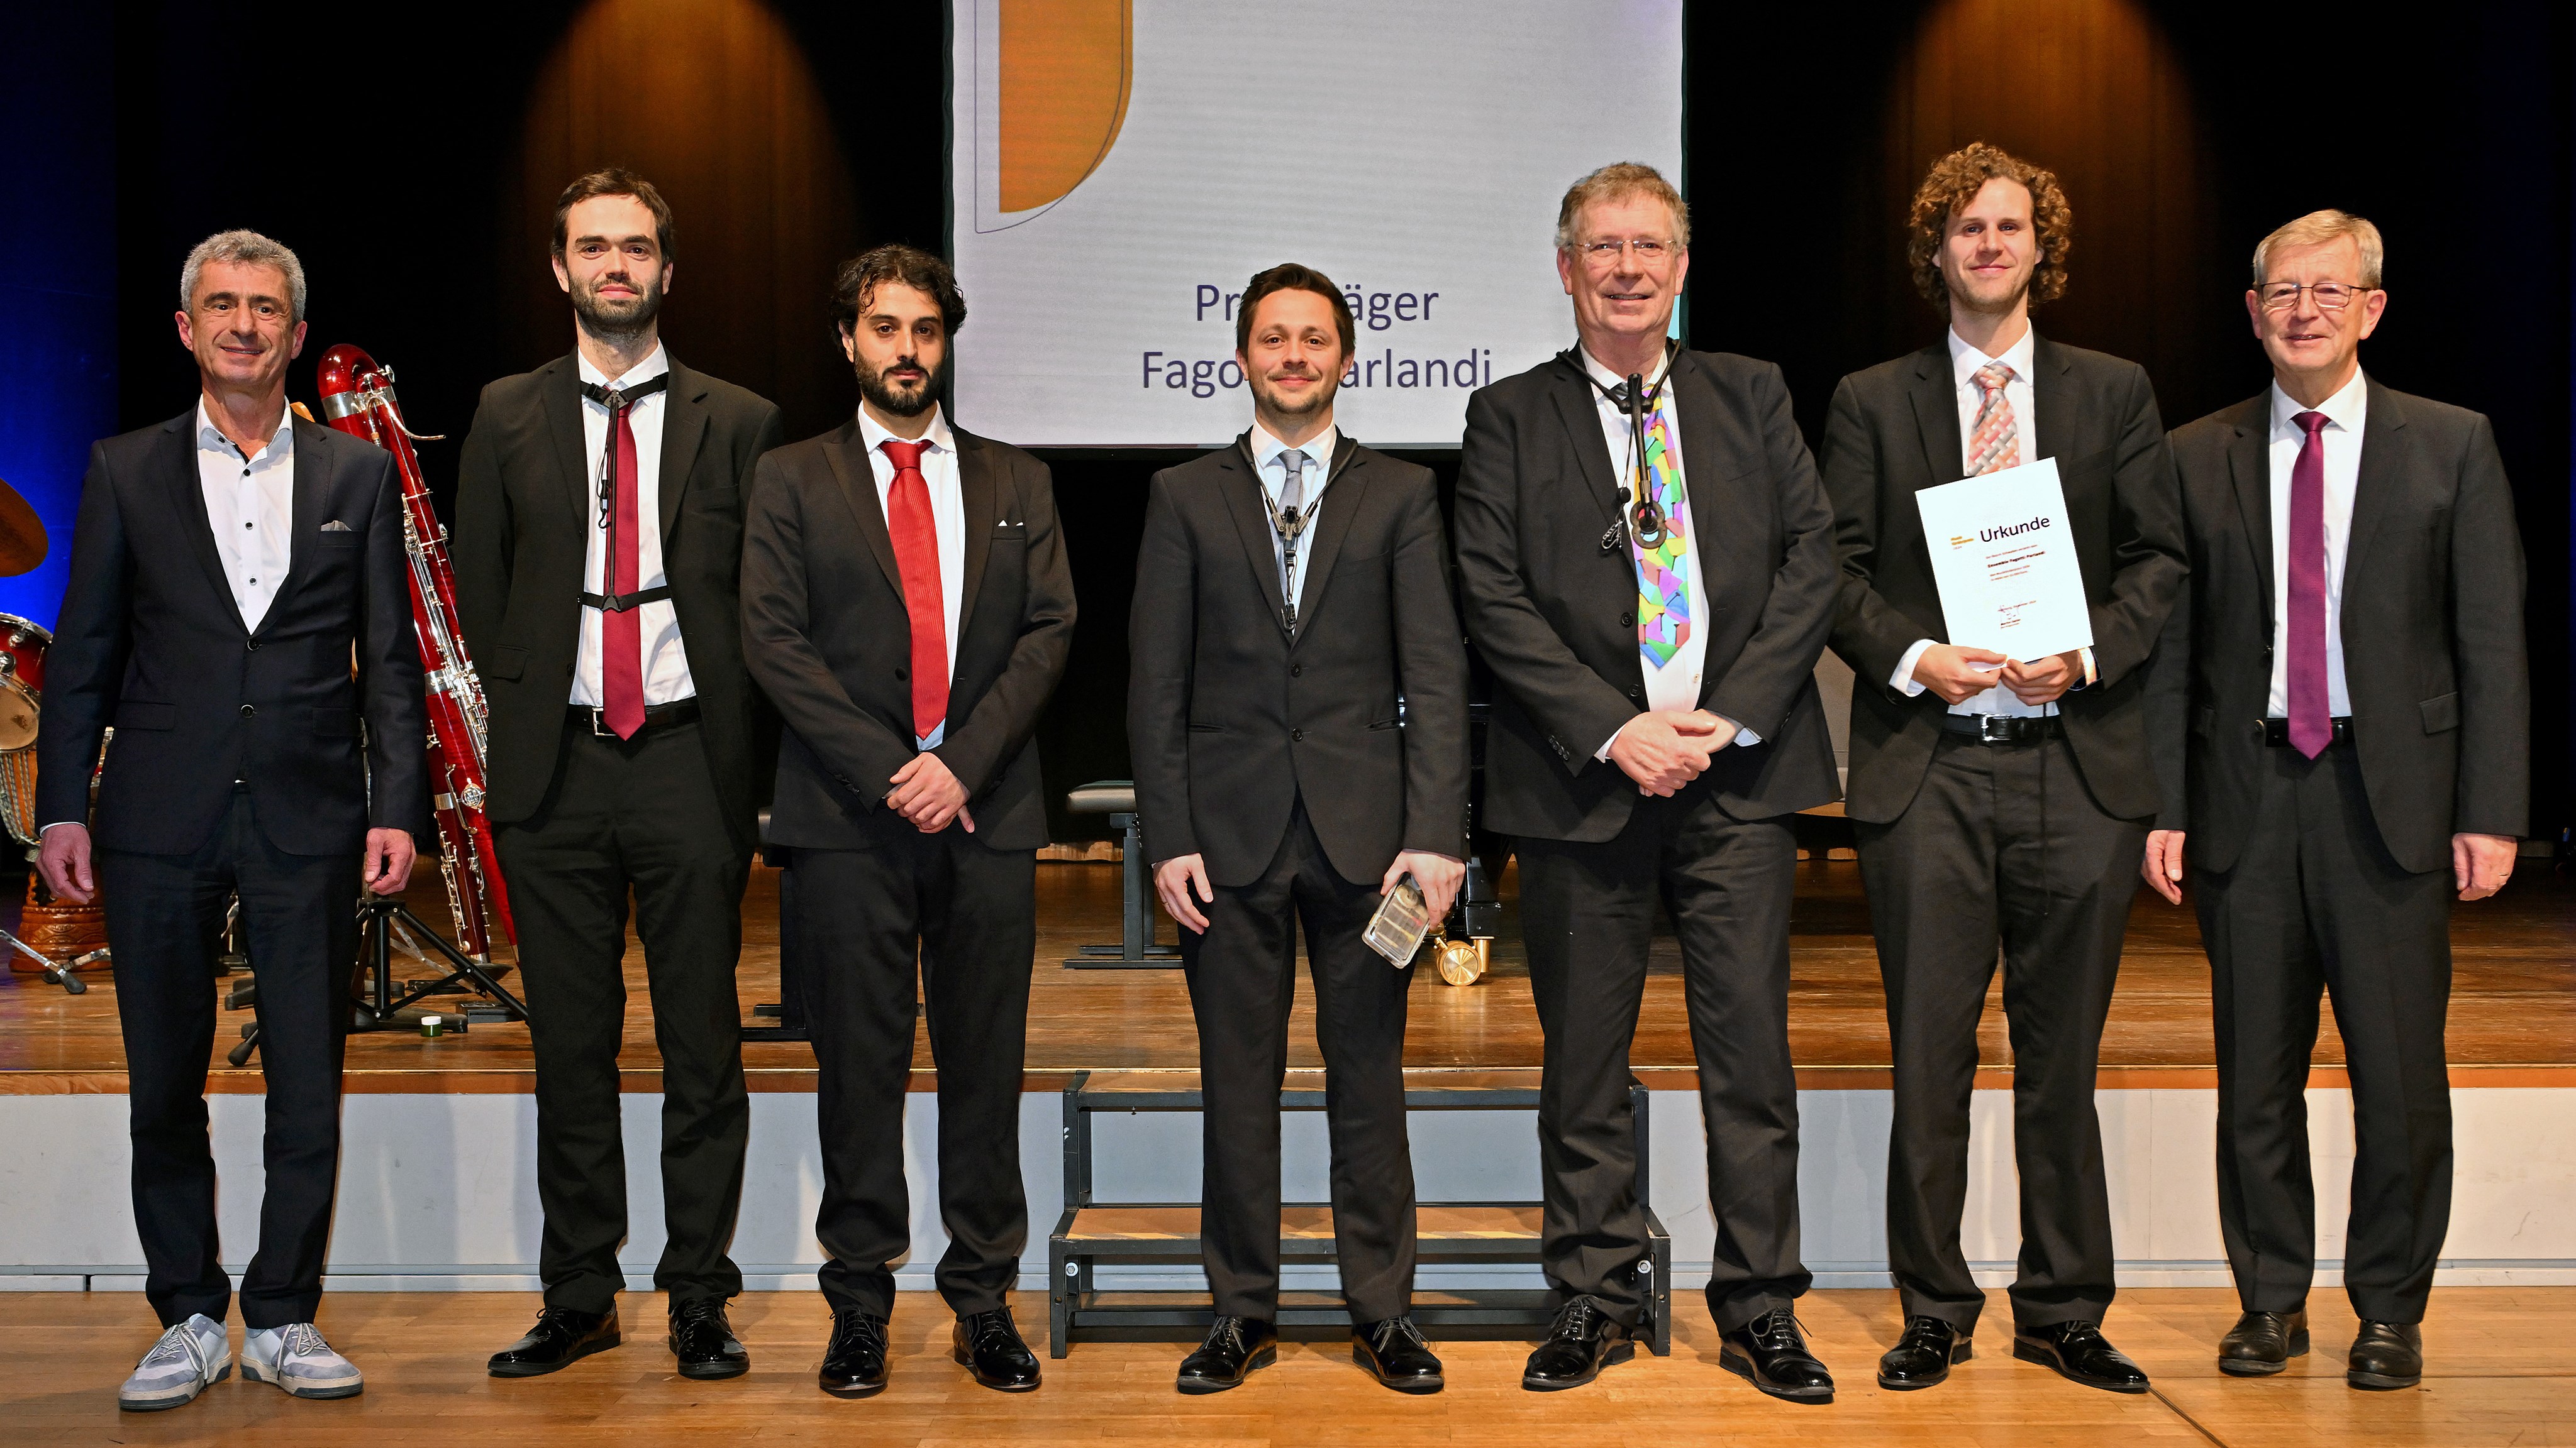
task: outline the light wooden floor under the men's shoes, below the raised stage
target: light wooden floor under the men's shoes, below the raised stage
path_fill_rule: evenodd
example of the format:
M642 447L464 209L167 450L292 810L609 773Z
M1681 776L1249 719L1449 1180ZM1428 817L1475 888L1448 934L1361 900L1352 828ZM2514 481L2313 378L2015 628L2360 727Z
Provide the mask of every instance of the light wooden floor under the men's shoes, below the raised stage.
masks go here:
M1399 1396L1370 1384L1342 1342L1288 1342L1280 1363L1242 1389L1180 1396L1175 1342L1084 1342L1048 1360L1046 1299L1020 1293L1018 1319L1038 1348L1046 1384L994 1394L948 1360L948 1311L904 1293L894 1311L894 1381L866 1402L814 1389L829 1329L814 1293L747 1293L734 1327L752 1371L721 1384L672 1373L662 1299L626 1293L626 1345L528 1381L484 1376L484 1358L518 1337L533 1293L330 1293L322 1329L366 1376L363 1396L294 1402L240 1376L180 1409L118 1415L116 1384L152 1345L139 1293L0 1296L0 1422L15 1443L204 1443L309 1448L451 1443L868 1443L1097 1448L1473 1443L1476 1448L1798 1443L1984 1448L2172 1443L2177 1448L2486 1448L2576 1440L2576 1288L2445 1288L2424 1324L2424 1384L2352 1391L2342 1353L2352 1314L2342 1293L2316 1293L2316 1350L2275 1378L2226 1378L2215 1342L2236 1317L2228 1291L2128 1291L2107 1329L2154 1378L2141 1396L2074 1386L2017 1363L2009 1306L1996 1293L1978 1355L1940 1389L1875 1386L1878 1353L1896 1337L1883 1291L1808 1293L1801 1319L1837 1373L1832 1407L1759 1396L1718 1368L1718 1340L1698 1293L1677 1293L1669 1358L1638 1355L1587 1389L1520 1389L1522 1342L1440 1342L1448 1391ZM240 1342L240 1329L234 1329Z

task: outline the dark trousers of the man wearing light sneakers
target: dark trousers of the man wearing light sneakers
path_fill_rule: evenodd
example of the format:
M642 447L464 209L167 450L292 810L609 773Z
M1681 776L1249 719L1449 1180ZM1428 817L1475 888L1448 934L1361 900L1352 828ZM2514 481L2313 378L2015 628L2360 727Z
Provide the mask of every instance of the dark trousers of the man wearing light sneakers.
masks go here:
M242 899L242 940L260 979L260 1250L242 1275L242 1322L312 1322L340 1183L340 1049L358 966L358 848L289 855L260 835L250 791L191 855L98 850L100 907L116 951L134 1129L134 1229L144 1296L162 1327L232 1299L214 1232L206 1062L214 1054L214 956L224 897ZM250 1185L250 1183L240 1183Z

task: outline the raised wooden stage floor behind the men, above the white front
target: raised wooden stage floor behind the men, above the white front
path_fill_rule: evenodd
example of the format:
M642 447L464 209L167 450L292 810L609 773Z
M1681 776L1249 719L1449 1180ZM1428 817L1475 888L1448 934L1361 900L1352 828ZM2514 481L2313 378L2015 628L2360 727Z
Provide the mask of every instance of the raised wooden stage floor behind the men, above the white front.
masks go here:
M1806 1087L1888 1085L1886 1000L1868 930L1860 871L1850 861L1798 866L1801 886L1790 940L1790 1051ZM1417 1074L1510 1074L1535 1080L1538 1018L1520 948L1517 889L1502 879L1504 928L1494 969L1473 987L1450 987L1417 969L1406 1025L1406 1069ZM422 920L443 922L435 876L412 891ZM1038 866L1038 956L1028 1025L1028 1085L1054 1090L1074 1072L1195 1069L1195 1031L1180 971L1069 971L1064 956L1082 943L1118 935L1118 866ZM1175 938L1170 920L1162 940ZM742 1007L778 1000L778 876L752 871L744 899ZM2548 861L2524 861L2496 899L2458 907L2452 922L2455 984L2450 1059L2458 1085L2576 1085L2576 879ZM397 961L397 976L428 974ZM0 1095L118 1092L124 1051L116 1031L116 984L90 971L90 992L70 997L39 976L0 982ZM659 1090L659 1059L641 951L629 948L629 1018L621 1064L629 1090ZM247 1013L224 1013L216 1028L211 1090L258 1092L258 1064L232 1069L224 1051ZM1298 987L1291 1067L1319 1067L1311 989ZM2002 992L1989 997L1981 1031L1981 1085L2009 1080ZM2318 1041L2316 1085L2342 1085L2342 1041L2331 1018ZM1690 1085L1690 1036L1682 1020L1680 951L1656 938L1646 1007L1633 1062L1646 1085ZM2130 912L2128 951L2102 1043L2102 1085L2215 1085L2210 1067L2208 961L2192 912L2141 891ZM814 1056L804 1043L744 1046L752 1090L811 1090ZM350 1090L392 1092L526 1092L528 1031L484 1025L469 1036L422 1041L402 1033L355 1036L348 1046ZM927 1041L914 1046L914 1085L930 1085Z

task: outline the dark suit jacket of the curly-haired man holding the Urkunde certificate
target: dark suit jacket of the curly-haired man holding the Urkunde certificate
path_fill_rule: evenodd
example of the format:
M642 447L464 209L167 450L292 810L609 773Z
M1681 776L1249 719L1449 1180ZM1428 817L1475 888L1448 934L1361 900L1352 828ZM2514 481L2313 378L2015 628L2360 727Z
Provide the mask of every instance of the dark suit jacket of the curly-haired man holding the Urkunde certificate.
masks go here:
M2066 520L2092 608L2094 683L2058 701L2066 745L2094 804L2117 819L2156 814L2146 763L2146 660L2182 590L2182 505L2146 368L2038 338L2030 405L2043 456L2058 459ZM2038 461L2027 456L2025 461ZM1932 765L1947 703L1888 685L1917 639L1950 642L1914 495L1958 482L1958 386L1950 345L1855 371L1824 423L1842 600L1834 652L1852 672L1852 819L1899 819Z

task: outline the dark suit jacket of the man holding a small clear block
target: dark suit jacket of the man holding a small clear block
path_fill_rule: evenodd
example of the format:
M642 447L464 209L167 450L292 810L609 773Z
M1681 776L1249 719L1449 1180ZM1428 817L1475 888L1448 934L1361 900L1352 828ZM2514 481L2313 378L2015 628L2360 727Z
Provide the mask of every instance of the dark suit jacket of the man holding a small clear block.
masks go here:
M1466 647L1430 469L1352 443L1316 505L1296 636L1244 438L1154 474L1128 616L1128 752L1149 861L1252 884L1291 809L1332 868L1466 853ZM1399 703L1401 701L1401 703Z

